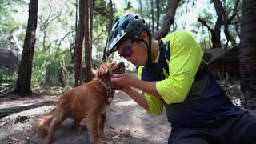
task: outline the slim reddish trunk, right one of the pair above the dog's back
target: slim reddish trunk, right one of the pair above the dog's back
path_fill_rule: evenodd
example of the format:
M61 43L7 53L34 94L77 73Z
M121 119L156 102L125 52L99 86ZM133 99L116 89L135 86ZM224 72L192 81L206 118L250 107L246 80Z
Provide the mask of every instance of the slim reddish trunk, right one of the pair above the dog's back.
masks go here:
M90 82L90 80L93 78L93 74L91 72L92 64L91 64L91 48L92 48L92 41L91 41L91 36L92 36L92 0L88 0L86 2L86 35L85 35L85 60L86 60L86 79L85 82Z

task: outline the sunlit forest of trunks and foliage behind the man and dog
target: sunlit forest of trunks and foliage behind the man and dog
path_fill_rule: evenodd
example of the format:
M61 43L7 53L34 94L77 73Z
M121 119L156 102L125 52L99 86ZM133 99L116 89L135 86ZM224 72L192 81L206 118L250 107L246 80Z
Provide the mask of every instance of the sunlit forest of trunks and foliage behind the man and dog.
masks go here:
M215 76L235 79L243 105L255 109L255 7L246 0L0 0L0 93L26 96L52 87L62 93L90 81L114 20L136 13L156 39L189 30L215 62ZM232 50L235 61L228 60ZM121 59L113 54L107 60Z

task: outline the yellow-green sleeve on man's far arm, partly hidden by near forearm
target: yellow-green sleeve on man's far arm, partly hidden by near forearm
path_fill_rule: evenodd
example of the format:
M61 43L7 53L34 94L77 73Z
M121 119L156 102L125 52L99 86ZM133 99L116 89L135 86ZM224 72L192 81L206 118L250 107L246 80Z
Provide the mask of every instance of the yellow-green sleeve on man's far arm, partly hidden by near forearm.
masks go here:
M138 79L141 80L141 74L142 74L142 66L138 68ZM149 106L149 109L147 110L147 114L154 114L154 115L160 115L162 114L163 110L163 103L162 100L159 98L155 98L151 94L144 93L144 96L146 98L146 102Z

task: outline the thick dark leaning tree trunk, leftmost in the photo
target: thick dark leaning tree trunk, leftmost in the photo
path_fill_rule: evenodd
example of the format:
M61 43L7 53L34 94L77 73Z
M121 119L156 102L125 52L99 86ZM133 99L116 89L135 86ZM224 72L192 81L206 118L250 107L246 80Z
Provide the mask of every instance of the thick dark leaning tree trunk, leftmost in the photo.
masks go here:
M18 68L18 78L15 93L21 96L31 94L31 74L34 56L35 34L38 22L38 0L30 0L29 18L26 37L22 51L22 60Z

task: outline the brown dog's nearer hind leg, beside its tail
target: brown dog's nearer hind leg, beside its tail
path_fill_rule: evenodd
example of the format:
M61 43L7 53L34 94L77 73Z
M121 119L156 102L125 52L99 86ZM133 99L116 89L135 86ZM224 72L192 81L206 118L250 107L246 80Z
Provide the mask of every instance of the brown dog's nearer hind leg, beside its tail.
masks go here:
M68 114L68 110L58 110L54 113L53 120L50 122L48 134L45 138L45 144L50 144L55 130L64 121L64 119L66 118L66 114Z

